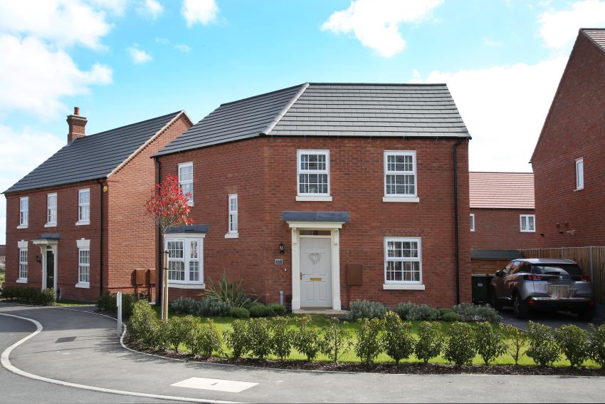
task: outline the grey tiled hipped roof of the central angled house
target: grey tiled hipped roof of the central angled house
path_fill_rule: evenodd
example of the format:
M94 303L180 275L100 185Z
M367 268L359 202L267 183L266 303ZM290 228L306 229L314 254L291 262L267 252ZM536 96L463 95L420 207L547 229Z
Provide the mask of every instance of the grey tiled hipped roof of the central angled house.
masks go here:
M304 83L223 104L157 155L261 135L470 137L445 84Z

